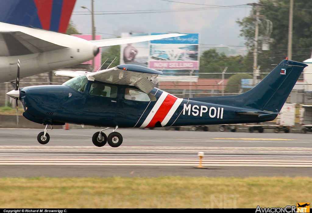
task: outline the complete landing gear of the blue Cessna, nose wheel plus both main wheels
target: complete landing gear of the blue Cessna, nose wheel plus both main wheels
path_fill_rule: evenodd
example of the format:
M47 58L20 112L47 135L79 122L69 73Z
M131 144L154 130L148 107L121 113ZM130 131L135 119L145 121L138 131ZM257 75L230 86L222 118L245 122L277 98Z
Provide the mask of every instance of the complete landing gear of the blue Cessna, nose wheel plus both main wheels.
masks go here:
M115 130L118 128L118 126L113 129L113 132L111 132L108 136L105 135L103 132L104 130L110 129L110 127L107 127L105 129L102 129L99 132L95 132L92 136L92 142L95 146L104 146L106 143L110 145L111 147L118 147L122 144L122 136L119 132L115 132ZM51 129L52 126L51 126ZM46 125L46 128L43 132L40 132L37 136L37 140L40 144L47 144L50 141L50 136L47 133L48 131L48 125Z

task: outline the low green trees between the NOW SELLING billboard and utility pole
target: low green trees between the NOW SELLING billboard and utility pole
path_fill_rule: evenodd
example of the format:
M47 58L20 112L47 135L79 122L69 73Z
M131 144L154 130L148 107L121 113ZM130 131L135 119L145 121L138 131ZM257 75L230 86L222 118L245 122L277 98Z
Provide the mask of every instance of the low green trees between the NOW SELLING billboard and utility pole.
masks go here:
M200 72L214 73L222 72L225 67L226 72L251 72L251 67L244 65L244 56L227 57L225 53L218 53L215 48L208 49L200 57ZM226 75L226 78L231 74ZM221 78L221 74L200 74L200 78Z

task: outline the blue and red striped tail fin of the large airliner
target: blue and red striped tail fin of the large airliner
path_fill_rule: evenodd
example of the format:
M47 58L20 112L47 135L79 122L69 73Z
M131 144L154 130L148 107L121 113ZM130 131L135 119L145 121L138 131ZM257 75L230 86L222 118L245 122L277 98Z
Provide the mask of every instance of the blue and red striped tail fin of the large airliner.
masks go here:
M65 33L76 0L1 0L0 22Z

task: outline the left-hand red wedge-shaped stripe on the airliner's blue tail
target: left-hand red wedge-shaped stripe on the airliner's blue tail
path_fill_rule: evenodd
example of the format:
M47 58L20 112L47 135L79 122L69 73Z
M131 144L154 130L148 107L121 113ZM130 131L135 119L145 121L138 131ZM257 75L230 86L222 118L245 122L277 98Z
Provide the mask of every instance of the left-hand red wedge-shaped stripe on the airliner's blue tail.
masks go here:
M76 1L76 0L75 0ZM51 22L52 2L53 0L34 0L37 13L41 22L42 29L49 30Z

